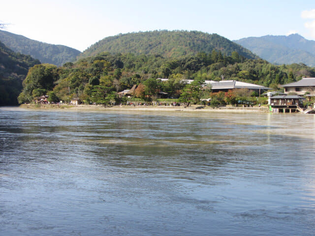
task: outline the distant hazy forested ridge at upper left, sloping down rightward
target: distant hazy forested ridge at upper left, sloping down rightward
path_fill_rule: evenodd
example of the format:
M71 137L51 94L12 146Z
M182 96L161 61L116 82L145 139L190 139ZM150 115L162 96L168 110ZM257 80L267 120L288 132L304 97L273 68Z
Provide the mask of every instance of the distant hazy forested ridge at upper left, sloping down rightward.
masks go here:
M80 51L70 47L39 42L3 30L0 30L0 41L14 52L31 55L42 63L51 63L58 66L75 60L80 54Z

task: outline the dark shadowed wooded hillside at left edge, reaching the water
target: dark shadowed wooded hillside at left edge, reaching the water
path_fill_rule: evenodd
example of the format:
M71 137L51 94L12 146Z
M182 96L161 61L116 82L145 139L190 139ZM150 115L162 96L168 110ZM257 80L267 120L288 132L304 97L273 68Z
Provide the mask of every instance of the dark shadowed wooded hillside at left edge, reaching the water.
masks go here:
M0 42L0 106L17 105L22 81L39 60L15 53Z

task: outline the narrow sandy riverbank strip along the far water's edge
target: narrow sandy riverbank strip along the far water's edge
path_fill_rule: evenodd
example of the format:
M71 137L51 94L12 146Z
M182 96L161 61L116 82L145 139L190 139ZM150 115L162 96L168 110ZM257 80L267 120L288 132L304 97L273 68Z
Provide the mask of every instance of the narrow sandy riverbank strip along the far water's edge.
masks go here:
M22 104L21 108L33 110L64 110L64 111L181 111L181 112L239 112L239 113L266 113L268 107L203 107L192 105L189 107L173 106L102 106L102 105L55 105L55 104Z

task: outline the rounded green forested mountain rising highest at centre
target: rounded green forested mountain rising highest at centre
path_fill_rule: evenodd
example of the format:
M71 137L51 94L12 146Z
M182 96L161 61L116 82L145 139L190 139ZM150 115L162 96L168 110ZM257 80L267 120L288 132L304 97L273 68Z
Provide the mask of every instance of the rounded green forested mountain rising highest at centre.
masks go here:
M257 58L249 50L218 34L184 30L155 30L106 37L89 47L78 58L95 56L101 52L180 58L199 52L211 53L213 50L221 51L227 56L235 51L247 59Z

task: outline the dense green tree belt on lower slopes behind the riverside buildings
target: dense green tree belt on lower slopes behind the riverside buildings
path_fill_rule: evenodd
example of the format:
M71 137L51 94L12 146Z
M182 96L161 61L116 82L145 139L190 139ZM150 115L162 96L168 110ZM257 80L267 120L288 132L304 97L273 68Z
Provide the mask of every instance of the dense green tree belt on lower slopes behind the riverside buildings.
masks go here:
M86 103L118 102L118 91L137 85L134 95L154 98L159 91L175 98L187 97L195 101L198 85L203 80L234 79L278 89L280 84L297 81L302 76L315 77L314 68L305 64L273 65L262 59L246 59L237 52L231 56L213 50L171 59L160 55L101 53L94 57L65 63L62 67L50 64L35 65L23 83L19 102L30 102L35 97L50 94L56 101L77 98ZM169 78L160 82L157 78ZM195 87L183 83L196 81ZM224 94L223 94L224 95ZM189 97L190 96L190 97Z

